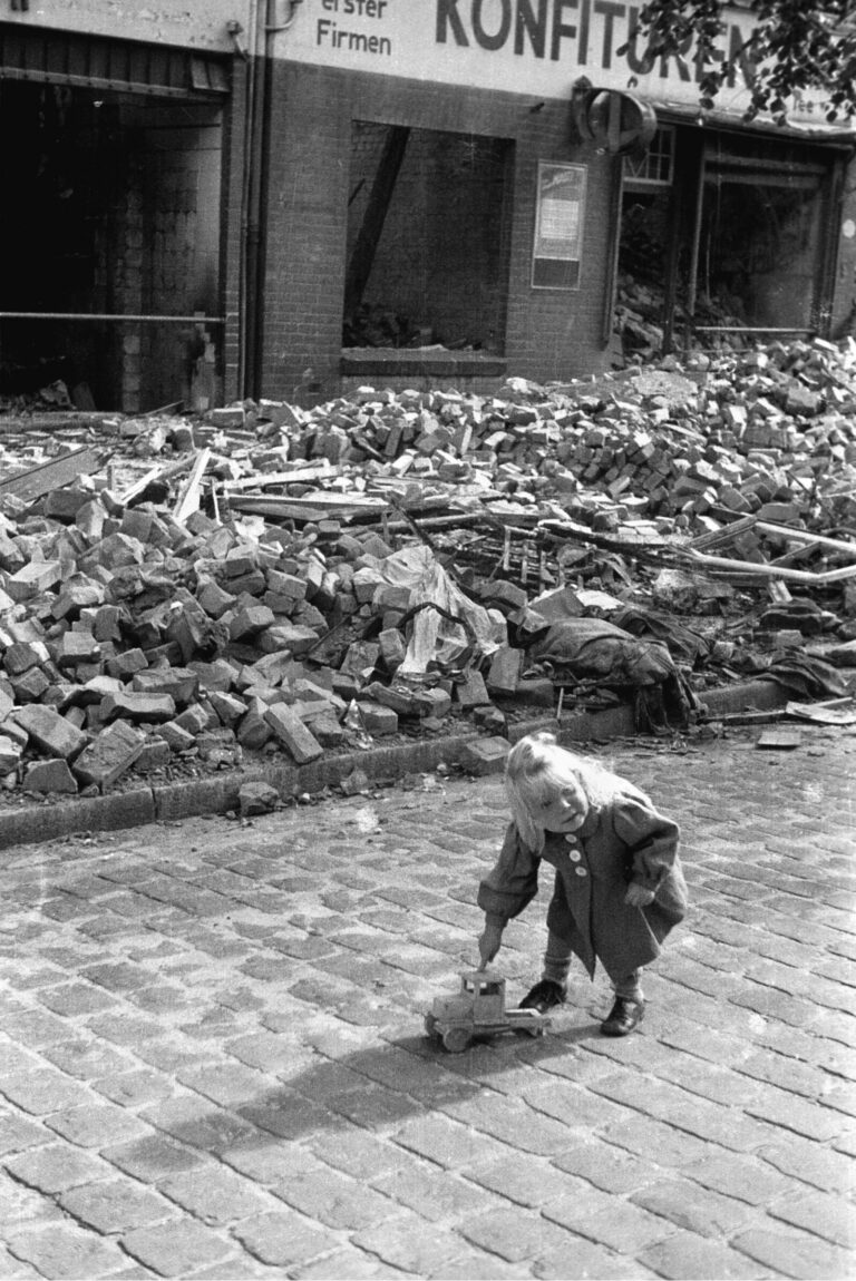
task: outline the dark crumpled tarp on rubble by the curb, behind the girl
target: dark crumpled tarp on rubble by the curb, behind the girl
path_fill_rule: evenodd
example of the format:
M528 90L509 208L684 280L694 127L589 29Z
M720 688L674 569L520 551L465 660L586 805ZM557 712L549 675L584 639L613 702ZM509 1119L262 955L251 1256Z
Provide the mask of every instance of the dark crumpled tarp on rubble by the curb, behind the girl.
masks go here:
M696 698L661 640L638 639L605 619L564 619L529 648L529 657L561 680L572 676L633 692L641 730L686 725Z

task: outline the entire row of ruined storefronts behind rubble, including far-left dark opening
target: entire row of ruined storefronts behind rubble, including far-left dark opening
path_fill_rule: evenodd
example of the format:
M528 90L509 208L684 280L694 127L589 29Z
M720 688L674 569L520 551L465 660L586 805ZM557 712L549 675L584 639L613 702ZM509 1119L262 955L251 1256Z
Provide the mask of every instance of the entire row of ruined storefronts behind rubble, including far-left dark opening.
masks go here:
M810 104L746 126L739 77L702 115L692 50L651 65L637 8L9 4L0 397L490 392L847 332L853 137Z

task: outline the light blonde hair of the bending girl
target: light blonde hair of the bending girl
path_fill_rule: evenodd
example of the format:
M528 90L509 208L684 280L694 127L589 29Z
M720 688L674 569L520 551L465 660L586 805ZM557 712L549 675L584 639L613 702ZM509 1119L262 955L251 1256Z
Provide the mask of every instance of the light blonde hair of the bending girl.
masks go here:
M539 807L573 785L582 789L589 806L600 807L615 797L620 780L598 761L560 747L556 735L546 730L528 734L511 748L505 762L505 790L511 817L529 849L543 849L543 828L534 817Z

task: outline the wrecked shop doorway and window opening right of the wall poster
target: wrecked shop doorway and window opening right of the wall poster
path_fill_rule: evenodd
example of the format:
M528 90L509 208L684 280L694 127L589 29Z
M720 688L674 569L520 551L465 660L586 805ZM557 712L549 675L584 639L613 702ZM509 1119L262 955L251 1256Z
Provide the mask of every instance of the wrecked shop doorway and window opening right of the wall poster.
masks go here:
M824 333L834 172L818 147L680 127L657 131L645 163L624 158L614 363Z

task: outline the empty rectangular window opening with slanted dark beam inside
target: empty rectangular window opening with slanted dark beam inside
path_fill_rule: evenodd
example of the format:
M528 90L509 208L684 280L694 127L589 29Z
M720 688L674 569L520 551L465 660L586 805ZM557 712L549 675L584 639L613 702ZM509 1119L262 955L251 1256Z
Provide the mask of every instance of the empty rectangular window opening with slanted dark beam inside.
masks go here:
M504 138L355 120L342 346L502 355Z

